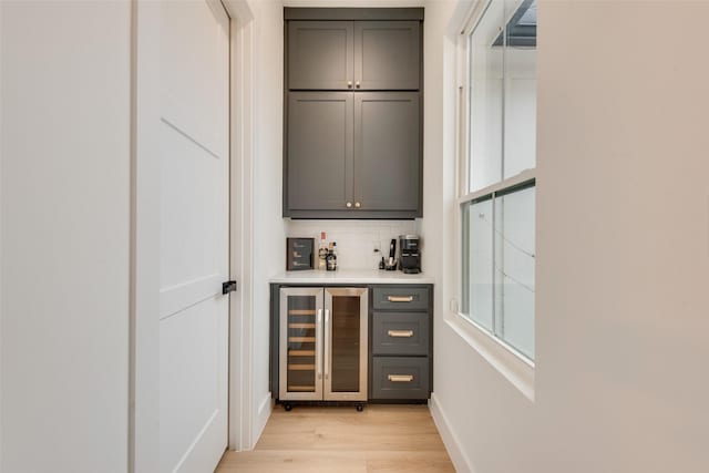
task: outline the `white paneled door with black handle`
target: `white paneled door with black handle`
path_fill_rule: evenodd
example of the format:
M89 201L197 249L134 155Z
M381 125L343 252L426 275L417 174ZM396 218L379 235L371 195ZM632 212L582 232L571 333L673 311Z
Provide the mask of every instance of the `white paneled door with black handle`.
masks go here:
M218 0L161 2L161 472L227 446L228 31Z

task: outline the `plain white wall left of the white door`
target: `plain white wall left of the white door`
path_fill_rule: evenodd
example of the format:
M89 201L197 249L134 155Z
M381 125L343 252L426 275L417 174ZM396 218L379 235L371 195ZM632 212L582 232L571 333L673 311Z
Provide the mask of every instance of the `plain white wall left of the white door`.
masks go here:
M131 6L0 11L0 470L125 472Z

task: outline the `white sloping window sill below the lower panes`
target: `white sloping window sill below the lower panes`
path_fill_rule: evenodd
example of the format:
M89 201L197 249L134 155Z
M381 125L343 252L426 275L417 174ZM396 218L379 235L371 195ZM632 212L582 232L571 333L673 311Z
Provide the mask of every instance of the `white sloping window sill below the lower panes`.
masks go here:
M452 312L445 322L525 398L534 402L534 363L481 329L466 317Z

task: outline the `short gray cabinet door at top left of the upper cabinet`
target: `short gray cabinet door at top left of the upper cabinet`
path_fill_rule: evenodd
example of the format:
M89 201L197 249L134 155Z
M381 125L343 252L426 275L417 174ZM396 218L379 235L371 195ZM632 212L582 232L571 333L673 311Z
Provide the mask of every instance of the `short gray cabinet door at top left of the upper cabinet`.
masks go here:
M351 21L288 22L288 89L352 89Z

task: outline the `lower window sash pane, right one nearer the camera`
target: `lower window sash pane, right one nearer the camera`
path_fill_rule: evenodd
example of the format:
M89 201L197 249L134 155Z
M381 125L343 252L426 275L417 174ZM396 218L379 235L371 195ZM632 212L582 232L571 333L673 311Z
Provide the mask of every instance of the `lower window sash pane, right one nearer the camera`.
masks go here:
M534 359L535 189L495 198L495 335Z

